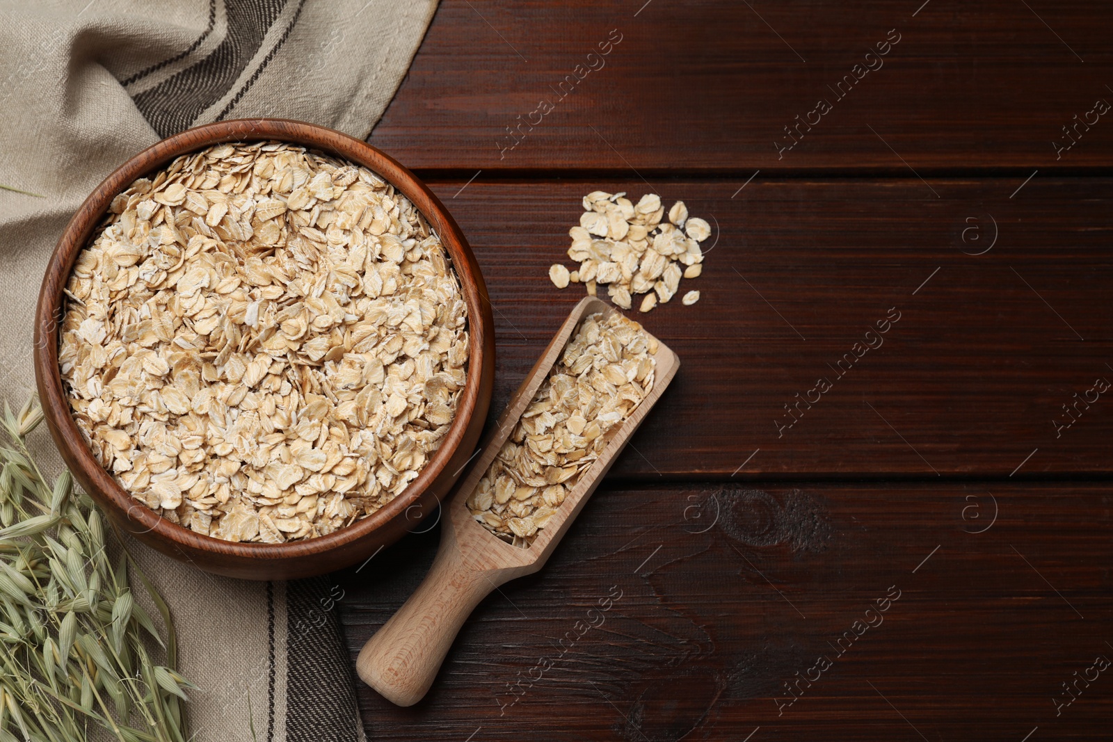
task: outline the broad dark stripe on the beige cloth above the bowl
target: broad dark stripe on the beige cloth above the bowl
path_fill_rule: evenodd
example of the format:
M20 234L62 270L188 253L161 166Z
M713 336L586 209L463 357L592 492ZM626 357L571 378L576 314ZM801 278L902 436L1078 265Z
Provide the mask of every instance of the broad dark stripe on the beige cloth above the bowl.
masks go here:
M287 0L225 0L228 33L205 59L135 96L136 107L161 137L188 128L220 100L263 46Z

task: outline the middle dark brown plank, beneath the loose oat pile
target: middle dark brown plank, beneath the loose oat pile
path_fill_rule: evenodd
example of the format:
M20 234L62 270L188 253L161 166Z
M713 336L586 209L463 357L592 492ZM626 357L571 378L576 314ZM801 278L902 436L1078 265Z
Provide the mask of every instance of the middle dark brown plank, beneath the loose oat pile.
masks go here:
M583 295L548 278L552 263L572 265L580 197L650 187L463 185L433 188L494 303L493 419ZM721 234L703 276L681 285L701 291L698 304L631 313L681 367L612 476L1109 472L1113 399L1078 403L1070 428L1054 423L1072 419L1063 405L1075 393L1113 382L1113 180L1036 178L1009 198L1018 185L759 177L732 198L735 184L654 181ZM856 358L894 308L899 320L868 340L883 345ZM811 392L820 377L823 395ZM820 399L782 429L797 394Z

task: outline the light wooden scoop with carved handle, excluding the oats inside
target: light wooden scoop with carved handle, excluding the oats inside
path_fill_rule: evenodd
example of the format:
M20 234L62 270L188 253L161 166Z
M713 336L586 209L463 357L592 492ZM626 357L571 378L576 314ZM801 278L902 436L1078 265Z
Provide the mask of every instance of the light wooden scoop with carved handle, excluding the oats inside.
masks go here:
M465 501L486 473L538 387L549 376L572 333L583 317L614 313L604 301L585 297L575 305L544 355L522 382L498 425L480 447L471 472L455 495L443 504L441 548L424 582L390 621L367 641L356 671L359 677L388 701L413 705L425 695L460 627L487 593L514 577L540 570L579 514L603 475L626 446L650 408L664 392L680 359L658 342L653 388L614 432L595 463L584 472L529 548L512 546L480 525Z

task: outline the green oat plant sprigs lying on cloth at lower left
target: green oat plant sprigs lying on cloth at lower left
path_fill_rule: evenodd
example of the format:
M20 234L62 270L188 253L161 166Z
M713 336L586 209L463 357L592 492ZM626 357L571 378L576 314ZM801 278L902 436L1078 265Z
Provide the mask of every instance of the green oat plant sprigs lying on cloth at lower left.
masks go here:
M90 733L186 742L184 689L195 686L174 670L169 607L69 472L47 484L27 447L41 421L35 397L14 415L4 403L0 742L83 742ZM120 554L115 564L110 552ZM161 613L165 636L135 600L129 566Z

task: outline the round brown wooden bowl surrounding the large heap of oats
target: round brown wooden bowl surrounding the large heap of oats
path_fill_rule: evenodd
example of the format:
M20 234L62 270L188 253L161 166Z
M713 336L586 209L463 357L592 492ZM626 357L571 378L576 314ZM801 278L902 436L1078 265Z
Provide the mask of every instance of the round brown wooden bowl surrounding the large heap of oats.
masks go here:
M339 531L285 544L234 543L170 523L135 499L101 467L70 413L58 366L62 289L78 253L101 225L112 198L135 180L176 157L226 141L279 140L321 150L377 172L408 198L437 235L460 277L467 304L471 349L467 385L456 416L417 477L380 511ZM460 227L410 170L364 141L312 123L240 119L201 126L164 139L120 166L70 219L47 266L35 317L35 375L50 434L77 481L122 528L175 558L203 570L248 580L292 580L332 572L366 560L392 544L430 513L455 484L479 442L494 382L494 326L479 265Z

